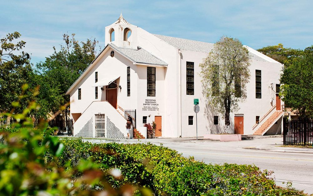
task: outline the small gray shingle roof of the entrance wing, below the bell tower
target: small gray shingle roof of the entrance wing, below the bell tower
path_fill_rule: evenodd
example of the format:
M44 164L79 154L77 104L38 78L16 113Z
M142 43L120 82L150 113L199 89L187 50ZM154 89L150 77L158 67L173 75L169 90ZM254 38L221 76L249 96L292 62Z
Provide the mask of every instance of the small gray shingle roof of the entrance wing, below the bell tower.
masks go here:
M122 55L126 56L127 58L131 59L136 63L167 66L166 62L162 61L156 56L153 56L151 53L149 53L143 48L138 47L137 50L134 50L130 48L119 48L112 43L110 43L109 45L114 50L120 52Z

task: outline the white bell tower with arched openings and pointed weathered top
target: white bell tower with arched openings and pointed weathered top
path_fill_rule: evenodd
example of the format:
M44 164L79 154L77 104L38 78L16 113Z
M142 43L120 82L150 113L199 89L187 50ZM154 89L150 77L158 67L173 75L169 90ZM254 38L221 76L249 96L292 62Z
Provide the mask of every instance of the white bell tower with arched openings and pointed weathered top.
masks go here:
M121 13L115 23L105 27L105 45L113 43L119 48L137 50L137 26L129 24Z

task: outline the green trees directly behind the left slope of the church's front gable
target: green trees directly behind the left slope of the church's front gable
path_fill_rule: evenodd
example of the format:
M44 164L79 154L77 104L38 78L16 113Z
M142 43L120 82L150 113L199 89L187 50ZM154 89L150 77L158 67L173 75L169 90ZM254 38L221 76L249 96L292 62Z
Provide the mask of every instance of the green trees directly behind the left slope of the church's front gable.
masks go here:
M40 86L37 101L41 105L36 116L46 117L49 112L55 113L69 103L65 93L95 59L98 41L79 42L74 36L64 34L65 44L60 45L60 50L53 47L54 53L36 65L34 85Z

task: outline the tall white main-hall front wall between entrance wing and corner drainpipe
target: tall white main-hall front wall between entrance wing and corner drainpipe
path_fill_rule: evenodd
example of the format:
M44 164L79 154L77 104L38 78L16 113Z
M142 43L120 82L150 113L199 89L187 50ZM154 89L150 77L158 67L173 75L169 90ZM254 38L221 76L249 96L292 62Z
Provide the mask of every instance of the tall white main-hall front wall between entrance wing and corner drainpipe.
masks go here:
M141 28L138 28L137 32L138 45L168 63L167 68L164 68L164 85L156 89L156 91L159 91L160 88L164 88L164 112L160 112L162 116L162 137L179 137L181 107L179 95L180 77L177 73L180 65L178 50ZM152 114L147 120L149 120L148 122L154 120Z

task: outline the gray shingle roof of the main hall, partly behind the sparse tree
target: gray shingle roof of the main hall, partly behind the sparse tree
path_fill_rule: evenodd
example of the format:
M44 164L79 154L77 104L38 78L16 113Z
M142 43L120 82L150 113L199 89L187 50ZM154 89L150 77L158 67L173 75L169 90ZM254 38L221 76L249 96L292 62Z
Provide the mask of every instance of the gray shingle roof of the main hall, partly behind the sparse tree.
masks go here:
M175 48L181 49L181 50L190 50L190 51L195 51L195 52L209 53L212 51L214 47L214 44L208 43L208 42L187 40L187 39L170 37L170 36L165 36L165 35L157 35L157 34L153 34L153 35L165 41L169 45L172 45ZM252 54L251 52L249 52L249 56L253 60L267 62L267 60L255 54Z

